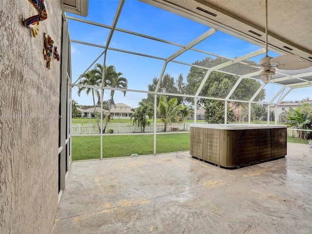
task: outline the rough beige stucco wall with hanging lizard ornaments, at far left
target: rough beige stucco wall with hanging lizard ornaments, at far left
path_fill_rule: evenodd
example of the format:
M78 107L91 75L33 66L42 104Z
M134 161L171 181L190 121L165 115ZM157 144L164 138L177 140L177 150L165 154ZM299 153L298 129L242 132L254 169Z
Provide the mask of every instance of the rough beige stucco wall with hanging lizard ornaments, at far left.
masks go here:
M61 0L31 37L28 0L0 0L0 233L51 233L58 207L60 61L43 59L43 33L61 52ZM11 115L19 115L12 118Z

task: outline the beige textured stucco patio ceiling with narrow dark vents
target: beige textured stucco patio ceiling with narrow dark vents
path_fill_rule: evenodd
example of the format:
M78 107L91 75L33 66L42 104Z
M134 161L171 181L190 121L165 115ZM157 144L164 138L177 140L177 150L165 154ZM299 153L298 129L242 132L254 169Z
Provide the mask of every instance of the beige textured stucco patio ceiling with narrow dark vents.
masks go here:
M228 30L236 37L253 40L262 45L265 43L265 0L154 0L154 2L176 9L181 14L186 13L206 20L210 26ZM202 12L196 9L197 7L216 16ZM268 0L269 48L286 54L297 54L303 60L312 62L311 12L311 0ZM249 30L261 36L256 36Z

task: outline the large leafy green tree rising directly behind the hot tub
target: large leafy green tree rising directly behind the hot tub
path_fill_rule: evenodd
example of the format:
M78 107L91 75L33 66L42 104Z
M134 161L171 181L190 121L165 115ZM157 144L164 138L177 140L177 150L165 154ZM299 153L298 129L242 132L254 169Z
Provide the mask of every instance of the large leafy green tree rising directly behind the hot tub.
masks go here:
M221 64L225 62L226 59L217 58L206 58L202 61L196 61L195 65L204 66L207 68L214 67L215 65ZM252 63L252 61L247 61ZM232 65L223 68L223 71L228 71L234 74L239 74L242 71L248 70L249 68L245 68L243 66ZM187 76L187 85L186 85L186 92L189 94L195 94L199 88L200 83L202 82L204 76L206 75L207 70L197 67L192 67L190 69L190 73ZM213 71L210 73L207 81L205 82L204 86L200 91L200 96L211 97L211 98L226 98L234 84L237 81L237 77ZM260 88L261 83L253 80L253 79L242 79L237 88L235 89L234 93L231 95L230 99L236 100L250 100L254 93ZM257 97L254 99L255 101L260 101L265 98L265 90L261 90ZM191 101L191 100L189 100ZM224 113L225 113L225 106L224 101L221 100L214 100L214 99L199 99L198 102L205 106L205 117L211 123L223 123L224 122ZM232 107L235 106L235 109ZM244 105L243 103L235 102L232 103L232 107L227 106L228 108L228 120L234 120L234 110L240 110L239 113L248 113L248 106ZM231 113L232 111L232 113ZM210 113L211 112L211 113ZM216 117L214 115L216 114ZM238 114L238 113L236 113ZM240 119L245 118L245 115L240 115Z

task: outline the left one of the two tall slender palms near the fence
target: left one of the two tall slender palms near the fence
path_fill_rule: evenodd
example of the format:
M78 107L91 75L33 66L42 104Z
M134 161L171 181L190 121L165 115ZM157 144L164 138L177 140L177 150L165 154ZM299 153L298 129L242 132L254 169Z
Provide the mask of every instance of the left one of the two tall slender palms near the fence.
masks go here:
M80 80L78 84L84 84L84 85L93 85L93 86L101 86L100 80L98 80L97 77L94 76L94 74L91 71L87 71L85 74L82 76L84 79ZM98 130L99 133L101 132L101 128L98 123L98 115L97 115L97 108L96 108L96 101L95 101L95 95L97 96L98 100L100 100L101 95L98 91L98 89L95 88L90 88L90 87L79 87L78 89L78 96L80 97L81 92L85 90L86 95L88 96L90 92L92 93L92 98L93 98L93 106L94 106L94 117L97 120L98 124Z

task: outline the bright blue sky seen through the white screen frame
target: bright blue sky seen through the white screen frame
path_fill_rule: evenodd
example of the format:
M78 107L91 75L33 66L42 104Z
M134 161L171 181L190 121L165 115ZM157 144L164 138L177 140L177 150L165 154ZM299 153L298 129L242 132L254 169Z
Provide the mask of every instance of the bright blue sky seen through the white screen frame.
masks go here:
M88 17L78 17L101 24L112 25L115 17L118 0L89 0ZM185 19L170 12L166 12L154 6L137 0L126 0L120 14L117 28L122 28L136 33L145 34L151 37L164 39L177 44L186 45L198 36L208 31L210 28L197 22ZM105 45L109 35L109 29L101 28L86 23L69 20L70 37L74 40L85 41L98 45ZM179 46L170 45L151 39L140 38L134 35L115 31L110 43L111 48L133 51L152 55L160 58L167 58L177 50ZM251 53L260 47L241 39L234 38L223 32L218 31L208 39L195 46L196 49L208 51L220 56L234 59L242 55ZM71 44L72 58L72 77L73 81L82 74L92 62L102 53L103 49L78 43ZM272 57L278 56L275 53L269 54ZM177 57L175 60L194 63L196 60L205 59L208 55L188 51ZM251 60L258 61L264 55L257 56ZM96 63L103 64L103 57ZM106 65L114 65L117 72L123 73L123 77L128 79L128 88L133 90L147 90L147 85L152 82L154 77L159 78L164 61L159 59L146 58L127 53L109 50L107 52ZM179 74L183 75L186 81L190 66L170 62L165 70L175 79ZM266 86L266 99L269 101L281 86L269 84ZM292 91L284 100L301 100L311 97L312 88L304 88ZM72 99L80 105L92 105L91 95L87 97L84 92L80 97L77 95L78 88L73 88ZM109 91L104 94L104 100L109 98ZM123 102L133 108L137 107L138 102L146 98L146 94L137 92L127 92L123 97L121 92L115 92L115 102Z

